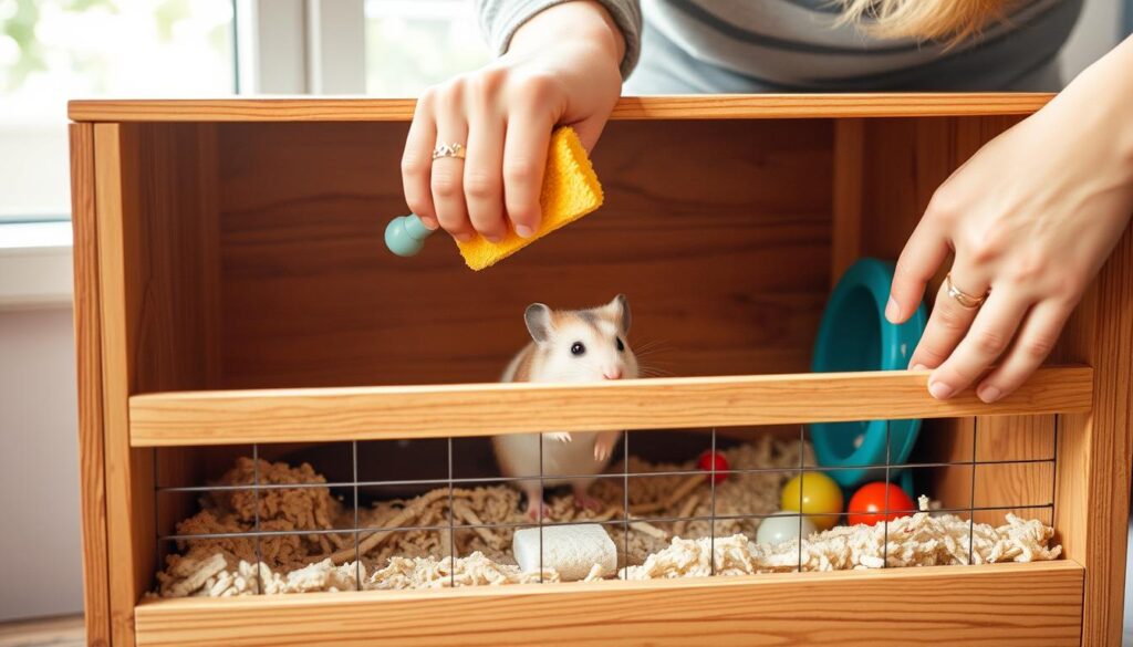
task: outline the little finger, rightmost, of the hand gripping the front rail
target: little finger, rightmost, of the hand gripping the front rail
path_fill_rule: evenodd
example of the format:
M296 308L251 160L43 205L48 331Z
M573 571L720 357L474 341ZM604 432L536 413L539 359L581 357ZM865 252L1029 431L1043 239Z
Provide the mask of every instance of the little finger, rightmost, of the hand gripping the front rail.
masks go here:
M995 402L1019 389L1050 355L1072 310L1071 304L1054 299L1040 301L1031 308L1011 352L977 389L980 400Z

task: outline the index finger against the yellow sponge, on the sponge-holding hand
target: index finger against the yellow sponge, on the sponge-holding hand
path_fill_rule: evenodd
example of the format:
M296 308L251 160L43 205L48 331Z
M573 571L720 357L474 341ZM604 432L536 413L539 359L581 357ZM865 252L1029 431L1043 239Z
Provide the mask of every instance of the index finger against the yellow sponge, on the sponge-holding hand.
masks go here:
M539 194L547 164L554 120L551 113L528 110L512 116L503 150L503 195L516 233L530 238L539 230Z

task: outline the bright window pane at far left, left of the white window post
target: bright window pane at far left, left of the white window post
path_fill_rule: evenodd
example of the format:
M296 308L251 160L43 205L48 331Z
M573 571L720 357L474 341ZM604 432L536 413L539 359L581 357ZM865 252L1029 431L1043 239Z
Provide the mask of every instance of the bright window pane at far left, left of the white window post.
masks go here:
M0 222L69 216L69 99L231 94L232 16L232 0L0 0Z

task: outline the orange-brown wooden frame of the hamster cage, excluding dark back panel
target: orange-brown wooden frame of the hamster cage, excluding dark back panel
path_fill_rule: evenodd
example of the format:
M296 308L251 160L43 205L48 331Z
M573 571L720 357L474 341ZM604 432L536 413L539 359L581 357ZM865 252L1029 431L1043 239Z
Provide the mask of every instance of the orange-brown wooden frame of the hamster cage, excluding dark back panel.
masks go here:
M827 156L813 159L829 160L832 165L829 259L820 271L837 275L858 256L895 256L947 173L1048 99L1014 94L625 99L614 119L833 120ZM272 628L279 629L275 639L280 641L293 637L295 644L317 644L312 638L317 632L327 644L361 644L373 637L368 631L374 628L403 620L406 608L415 611L400 627L420 640L441 641L443 636L426 633L432 623L421 622L423 615L452 613L471 620L511 604L538 612L540 618L546 615L544 608L566 608L570 621L528 623L518 615L508 616L511 620L496 622L493 631L475 635L482 642L529 642L533 636L565 642L611 636L624 644L649 639L676 644L676 637L685 636L680 631L689 630L746 644L896 645L902 640L893 628L917 627L920 619L934 621L932 638L940 644L1096 646L1119 640L1124 581L1119 564L1125 554L1133 451L1130 232L1077 307L1055 354L1055 360L1074 366L1047 368L1019 394L995 406L971 397L935 403L923 393L925 375L914 373L726 375L596 388L394 385L216 392L233 382L225 375L231 350L225 343L248 337L225 337L219 330L228 304L225 263L231 258L216 253L218 237L224 236L218 204L232 190L218 179L227 159L220 146L232 145L231 137L219 134L227 126L219 124L258 128L259 124L303 121L331 133L344 122L404 122L411 113L412 102L384 100L71 104L70 116L78 122L71 127L73 195L91 644L250 645L263 642ZM317 145L317 134L312 141ZM871 227L878 219L893 227ZM255 383L245 374L237 377L236 382ZM333 382L333 376L327 381ZM885 395L871 397L870 391L878 388L886 390ZM824 393L821 403L812 405L811 399L800 406L800 395L815 390ZM623 403L632 399L642 406L661 405L625 417L612 405L613 398ZM273 408L281 401L295 409ZM501 407L504 402L506 409ZM571 406L543 417L548 402ZM722 402L732 406L725 410ZM337 417L343 403L359 417ZM462 409L469 405L475 410ZM420 407L438 412L432 418L415 417ZM436 435L458 408L461 420L468 423L463 433L485 433L489 426L499 433L501 423L505 431L518 433L552 423L577 426L580 420L593 428L612 422L656 428L693 420L729 425L852 419L879 411L886 417L1058 412L1063 427L1054 517L1066 560L915 572L607 582L593 589L564 585L139 604L151 586L156 559L153 448L329 437L300 433L299 420L327 423L337 440L392 437L367 432L359 423L375 416L418 420L402 435ZM1020 590L1028 591L1025 599L1012 596ZM888 596L877 598L884 608L870 604L870 591ZM337 624L330 627L312 614L326 614ZM594 619L614 620L610 614L633 620L621 632L599 633ZM889 624L863 622L859 614L884 618ZM1049 618L1048 624L1038 631L1029 629L1040 616ZM700 618L710 620L696 623ZM663 624L666 619L671 623ZM366 633L351 633L339 622L343 620L359 623ZM665 629L645 629L657 627ZM631 633L637 629L641 631ZM410 644L407 636L399 644Z

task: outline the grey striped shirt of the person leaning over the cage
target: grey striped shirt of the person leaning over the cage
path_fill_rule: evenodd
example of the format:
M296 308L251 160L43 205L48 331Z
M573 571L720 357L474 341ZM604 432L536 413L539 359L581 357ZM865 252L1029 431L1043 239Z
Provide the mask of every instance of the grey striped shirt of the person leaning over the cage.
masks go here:
M476 0L503 53L535 14L568 0ZM1058 91L1057 54L1082 0L1025 0L947 46L837 25L830 0L599 0L625 36L628 94Z

